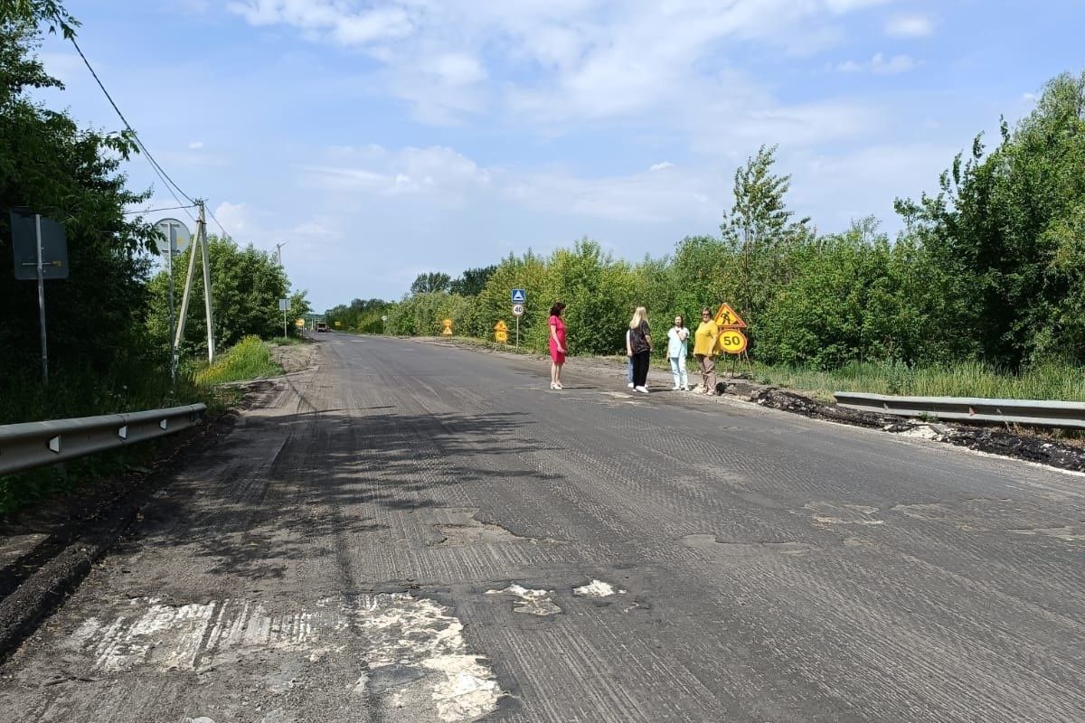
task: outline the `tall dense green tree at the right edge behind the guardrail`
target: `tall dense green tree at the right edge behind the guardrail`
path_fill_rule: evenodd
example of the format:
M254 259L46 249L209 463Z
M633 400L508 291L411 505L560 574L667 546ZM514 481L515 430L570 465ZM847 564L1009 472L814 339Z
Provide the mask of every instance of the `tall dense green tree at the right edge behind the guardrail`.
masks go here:
M1032 114L1012 130L1004 121L999 145L984 152L978 137L936 195L897 202L947 271L942 291L955 302L944 336L969 339L998 365L1046 356L1080 362L1080 280L1060 259L1073 256L1067 232L1085 203L1085 73L1048 82Z

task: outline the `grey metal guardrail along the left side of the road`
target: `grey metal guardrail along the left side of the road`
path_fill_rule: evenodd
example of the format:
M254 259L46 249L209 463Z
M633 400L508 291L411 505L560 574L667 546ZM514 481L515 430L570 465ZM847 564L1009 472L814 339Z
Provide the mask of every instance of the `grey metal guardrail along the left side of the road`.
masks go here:
M0 426L0 475L66 462L194 426L206 404Z

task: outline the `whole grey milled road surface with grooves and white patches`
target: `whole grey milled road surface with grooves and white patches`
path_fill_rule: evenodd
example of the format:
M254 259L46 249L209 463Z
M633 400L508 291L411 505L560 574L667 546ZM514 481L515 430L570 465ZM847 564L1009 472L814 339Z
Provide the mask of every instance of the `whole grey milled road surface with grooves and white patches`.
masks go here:
M320 335L0 670L0 720L1085 720L1085 479Z

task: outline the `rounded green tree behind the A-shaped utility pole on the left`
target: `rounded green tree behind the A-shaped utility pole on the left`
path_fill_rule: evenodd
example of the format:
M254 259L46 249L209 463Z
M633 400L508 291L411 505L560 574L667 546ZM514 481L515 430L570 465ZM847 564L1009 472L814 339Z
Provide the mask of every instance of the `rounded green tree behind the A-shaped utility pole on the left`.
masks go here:
M175 305L180 313L184 277L193 247L174 260ZM286 312L289 334L295 334L294 320L310 311L305 292L291 294L290 281L275 256L253 247L238 246L230 238L208 237L210 256L212 300L215 311L215 345L226 348L237 344L242 337L255 335L271 338L282 334L283 313L279 299L289 298ZM189 301L188 321L181 356L206 358L207 322L204 313L203 274L201 259L192 280L192 297ZM151 317L148 322L150 338L159 350L169 348L169 275L163 270L151 281Z

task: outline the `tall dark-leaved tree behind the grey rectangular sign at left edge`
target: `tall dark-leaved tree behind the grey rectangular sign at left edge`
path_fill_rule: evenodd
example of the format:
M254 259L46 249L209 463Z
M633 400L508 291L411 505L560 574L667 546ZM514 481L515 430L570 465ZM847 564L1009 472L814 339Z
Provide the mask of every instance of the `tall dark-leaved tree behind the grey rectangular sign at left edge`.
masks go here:
M0 325L0 388L34 375L39 356L36 284L13 280L14 206L58 220L67 235L71 275L46 291L52 365L105 372L148 348L141 330L153 230L125 214L148 194L128 191L119 172L135 141L81 129L30 100L30 89L62 86L33 57L37 26L27 18L74 25L50 2L4 4L0 13L0 306L9 320Z

